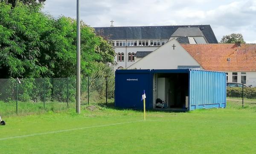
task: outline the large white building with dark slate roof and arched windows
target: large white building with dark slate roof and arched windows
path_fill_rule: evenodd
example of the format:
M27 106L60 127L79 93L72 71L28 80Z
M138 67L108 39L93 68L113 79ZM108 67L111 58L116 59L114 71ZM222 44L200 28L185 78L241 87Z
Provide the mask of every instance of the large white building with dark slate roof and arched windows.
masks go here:
M126 69L136 61L175 38L182 44L217 44L210 25L95 27L113 41L117 65Z

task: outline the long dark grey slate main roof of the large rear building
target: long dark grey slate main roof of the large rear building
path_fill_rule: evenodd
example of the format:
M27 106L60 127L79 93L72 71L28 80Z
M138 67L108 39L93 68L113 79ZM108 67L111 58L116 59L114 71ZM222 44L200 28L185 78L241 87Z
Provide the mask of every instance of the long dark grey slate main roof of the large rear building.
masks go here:
M207 41L217 44L218 41L210 25L191 26L131 26L131 27L95 27L95 31L103 31L103 35L112 40L125 39L169 39L178 28L198 27Z

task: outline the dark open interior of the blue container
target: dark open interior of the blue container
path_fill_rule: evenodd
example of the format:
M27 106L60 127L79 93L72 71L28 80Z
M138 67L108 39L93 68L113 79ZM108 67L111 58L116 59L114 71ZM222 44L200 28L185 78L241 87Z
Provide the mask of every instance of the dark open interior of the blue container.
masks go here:
M153 82L153 108L188 108L188 73L154 73Z

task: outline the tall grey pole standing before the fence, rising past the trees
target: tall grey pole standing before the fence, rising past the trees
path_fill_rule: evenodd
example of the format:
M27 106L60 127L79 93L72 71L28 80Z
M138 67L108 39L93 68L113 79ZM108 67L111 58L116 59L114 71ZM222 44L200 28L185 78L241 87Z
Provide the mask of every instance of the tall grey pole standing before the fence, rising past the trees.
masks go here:
M76 0L76 113L80 114L80 6Z

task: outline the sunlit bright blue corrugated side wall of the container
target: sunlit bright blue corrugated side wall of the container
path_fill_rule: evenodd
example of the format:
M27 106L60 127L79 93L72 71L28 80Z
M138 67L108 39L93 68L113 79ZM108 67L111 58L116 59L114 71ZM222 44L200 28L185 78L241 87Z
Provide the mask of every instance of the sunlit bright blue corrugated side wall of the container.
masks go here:
M189 110L226 107L226 74L190 70Z

